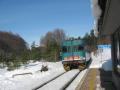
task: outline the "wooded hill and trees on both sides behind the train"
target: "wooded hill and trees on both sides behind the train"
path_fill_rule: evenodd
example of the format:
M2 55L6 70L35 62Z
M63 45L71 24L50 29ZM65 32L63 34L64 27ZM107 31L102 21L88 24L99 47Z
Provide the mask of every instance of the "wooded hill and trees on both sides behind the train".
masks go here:
M33 61L56 62L60 60L60 45L62 41L70 38L62 29L47 32L40 39L39 46L35 41L29 47L28 43L19 35L12 32L0 31L0 68L8 67L8 70L19 68L23 64ZM97 44L104 41L110 43L109 39L99 39L94 36L94 30L86 33L84 39L90 51L97 49Z

